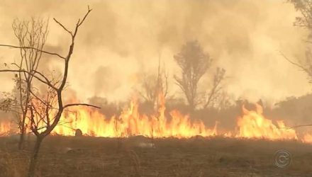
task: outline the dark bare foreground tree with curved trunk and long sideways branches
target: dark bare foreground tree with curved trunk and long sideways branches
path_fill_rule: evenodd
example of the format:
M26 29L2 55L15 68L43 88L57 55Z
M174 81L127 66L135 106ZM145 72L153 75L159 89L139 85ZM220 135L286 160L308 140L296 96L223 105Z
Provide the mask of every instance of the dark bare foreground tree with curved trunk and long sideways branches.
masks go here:
M92 106L96 107L94 105L89 105L85 103L69 103L65 104L63 103L62 99L62 91L65 89L65 85L67 83L67 75L69 71L69 61L72 57L72 53L74 51L74 41L77 36L77 32L79 30L79 27L84 23L85 19L91 12L91 9L88 6L88 11L84 15L82 19L79 18L77 21L74 31L68 30L68 28L65 27L65 25L62 25L60 21L57 21L57 19L53 18L53 20L60 25L60 27L65 30L66 33L68 33L71 37L71 43L69 45L69 50L67 52L67 55L64 57L58 53L55 52L48 52L43 50L43 48L38 47L29 47L29 46L15 46L15 45L0 45L4 47L13 47L16 49L22 49L22 50L34 50L38 51L44 54L60 57L62 59L62 62L64 62L64 71L62 74L61 79L54 79L49 78L42 72L39 72L38 69L33 69L31 71L27 71L26 69L2 69L0 72L16 72L18 74L26 74L32 77L32 79L35 79L38 83L43 84L45 86L45 93L40 93L40 91L33 91L30 89L30 93L32 95L32 98L30 99L29 105L27 106L29 110L29 117L30 117L30 130L33 132L33 134L36 136L35 141L35 147L33 149L32 158L30 161L30 166L28 170L28 177L33 177L35 175L35 167L38 160L38 152L40 149L40 144L43 142L43 139L50 135L52 130L58 125L60 122L60 118L62 116L62 113L64 110L71 106L76 105L84 105L84 106ZM30 84L32 84L31 82ZM99 107L96 107L99 108Z

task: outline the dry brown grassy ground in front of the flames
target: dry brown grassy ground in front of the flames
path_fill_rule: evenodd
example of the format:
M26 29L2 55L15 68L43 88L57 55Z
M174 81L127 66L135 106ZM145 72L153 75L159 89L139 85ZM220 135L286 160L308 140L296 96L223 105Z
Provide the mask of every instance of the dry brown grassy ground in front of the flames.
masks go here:
M264 139L223 137L155 139L47 137L38 161L38 176L312 176L312 145ZM16 137L0 137L0 176L25 176L33 141L23 152ZM119 149L119 150L118 150ZM279 168L274 154L291 153Z

